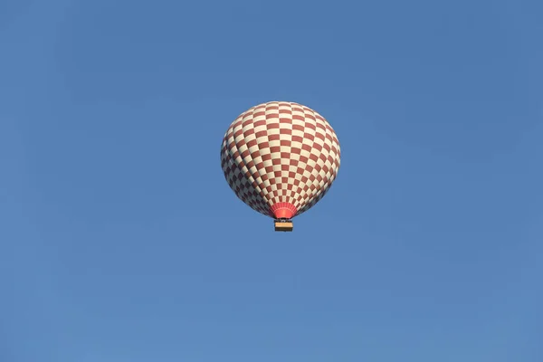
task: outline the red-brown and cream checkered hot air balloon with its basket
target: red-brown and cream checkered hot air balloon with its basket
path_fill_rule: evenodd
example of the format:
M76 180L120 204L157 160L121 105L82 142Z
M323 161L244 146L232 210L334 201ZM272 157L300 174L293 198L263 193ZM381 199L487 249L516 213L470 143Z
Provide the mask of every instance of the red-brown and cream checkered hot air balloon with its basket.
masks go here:
M299 103L270 101L245 110L226 130L221 167L233 192L291 232L292 219L327 194L338 175L336 132Z

